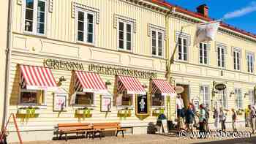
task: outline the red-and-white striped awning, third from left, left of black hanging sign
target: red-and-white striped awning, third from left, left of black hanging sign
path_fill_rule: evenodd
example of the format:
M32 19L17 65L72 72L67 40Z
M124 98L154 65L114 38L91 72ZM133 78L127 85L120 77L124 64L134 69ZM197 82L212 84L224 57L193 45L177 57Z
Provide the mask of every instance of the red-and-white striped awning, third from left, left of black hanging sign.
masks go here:
M117 80L118 94L146 94L136 77L118 76Z

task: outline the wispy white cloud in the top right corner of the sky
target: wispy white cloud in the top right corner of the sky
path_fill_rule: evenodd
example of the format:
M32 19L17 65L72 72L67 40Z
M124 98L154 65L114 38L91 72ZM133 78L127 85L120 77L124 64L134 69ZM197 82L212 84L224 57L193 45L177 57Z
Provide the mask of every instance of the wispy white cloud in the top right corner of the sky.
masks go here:
M256 1L252 1L251 4L249 4L249 6L243 7L240 10L227 12L227 14L224 15L224 19L241 17L254 11L256 11Z

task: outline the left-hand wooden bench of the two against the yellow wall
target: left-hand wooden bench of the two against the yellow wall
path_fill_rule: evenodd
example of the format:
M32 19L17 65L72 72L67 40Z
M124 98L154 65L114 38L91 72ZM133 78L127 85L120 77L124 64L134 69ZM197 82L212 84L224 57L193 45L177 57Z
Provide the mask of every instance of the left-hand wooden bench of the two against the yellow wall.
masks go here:
M67 141L67 134L86 134L88 136L89 132L93 133L94 129L89 123L75 123L75 124L58 124L57 137L59 134L59 140L61 139L62 134L65 134Z

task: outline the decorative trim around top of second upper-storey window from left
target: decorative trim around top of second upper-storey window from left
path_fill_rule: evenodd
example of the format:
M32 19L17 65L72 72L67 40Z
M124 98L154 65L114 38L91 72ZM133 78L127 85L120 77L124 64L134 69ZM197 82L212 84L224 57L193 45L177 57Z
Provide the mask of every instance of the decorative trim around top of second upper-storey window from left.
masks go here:
M75 9L76 8L80 8L83 10L89 10L91 12L95 12L96 13L96 23L99 24L99 9L94 8L94 7L88 7L84 4L80 4L78 2L72 1L72 18L75 18Z

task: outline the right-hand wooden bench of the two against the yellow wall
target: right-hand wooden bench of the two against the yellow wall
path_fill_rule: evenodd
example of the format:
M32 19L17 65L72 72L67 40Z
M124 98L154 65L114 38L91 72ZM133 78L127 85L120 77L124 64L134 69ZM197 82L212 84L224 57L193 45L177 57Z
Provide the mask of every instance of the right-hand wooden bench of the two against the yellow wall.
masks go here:
M112 122L112 123L94 123L92 124L93 129L94 129L94 134L93 134L93 138L95 136L95 134L99 133L99 138L102 137L102 133L103 132L107 132L107 131L115 131L116 132L116 137L118 135L118 132L122 132L122 137L124 137L124 131L126 131L126 129L122 129L120 126L120 123L117 122Z

